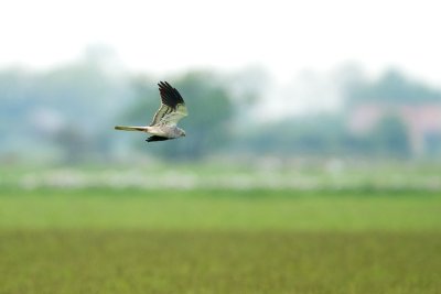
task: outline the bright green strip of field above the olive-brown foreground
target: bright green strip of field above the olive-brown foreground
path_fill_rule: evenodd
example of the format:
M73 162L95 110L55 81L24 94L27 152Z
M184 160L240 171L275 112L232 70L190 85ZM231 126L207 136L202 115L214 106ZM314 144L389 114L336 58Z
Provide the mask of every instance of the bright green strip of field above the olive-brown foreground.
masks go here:
M0 228L441 231L441 192L7 189Z

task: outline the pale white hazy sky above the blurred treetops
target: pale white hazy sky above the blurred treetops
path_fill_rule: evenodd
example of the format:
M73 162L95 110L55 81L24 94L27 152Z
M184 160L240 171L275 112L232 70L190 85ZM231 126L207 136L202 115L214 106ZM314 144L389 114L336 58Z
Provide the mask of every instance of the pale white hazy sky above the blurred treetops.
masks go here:
M108 45L129 68L261 65L289 80L357 62L441 85L440 1L3 0L0 67L36 68Z

